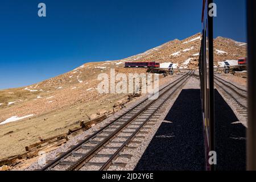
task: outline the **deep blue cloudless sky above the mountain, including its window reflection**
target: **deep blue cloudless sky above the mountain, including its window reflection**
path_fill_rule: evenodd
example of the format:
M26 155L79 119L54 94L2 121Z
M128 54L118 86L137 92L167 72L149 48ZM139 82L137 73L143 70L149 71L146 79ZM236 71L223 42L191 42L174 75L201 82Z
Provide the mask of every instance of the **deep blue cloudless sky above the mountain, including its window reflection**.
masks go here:
M40 2L46 18L38 16ZM215 2L214 36L245 42L245 0ZM187 38L201 31L201 8L201 0L2 0L0 89Z

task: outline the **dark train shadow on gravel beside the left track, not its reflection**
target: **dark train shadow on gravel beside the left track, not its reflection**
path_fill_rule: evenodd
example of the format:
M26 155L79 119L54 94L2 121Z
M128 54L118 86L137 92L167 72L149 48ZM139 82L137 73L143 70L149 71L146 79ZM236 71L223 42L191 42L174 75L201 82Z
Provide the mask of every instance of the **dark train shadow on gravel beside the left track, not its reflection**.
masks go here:
M204 170L200 90L182 90L135 170Z

